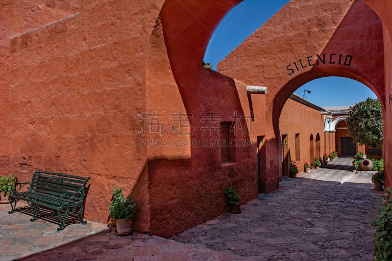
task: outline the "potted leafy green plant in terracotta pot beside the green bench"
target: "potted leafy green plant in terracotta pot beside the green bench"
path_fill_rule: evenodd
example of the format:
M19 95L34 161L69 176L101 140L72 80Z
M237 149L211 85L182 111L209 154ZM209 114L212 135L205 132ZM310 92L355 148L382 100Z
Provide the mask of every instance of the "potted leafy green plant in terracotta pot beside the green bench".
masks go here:
M126 199L123 195L123 188L113 189L113 199L109 205L110 217L116 221L115 234L118 236L126 236L131 233L132 217L136 213L136 203L132 196Z

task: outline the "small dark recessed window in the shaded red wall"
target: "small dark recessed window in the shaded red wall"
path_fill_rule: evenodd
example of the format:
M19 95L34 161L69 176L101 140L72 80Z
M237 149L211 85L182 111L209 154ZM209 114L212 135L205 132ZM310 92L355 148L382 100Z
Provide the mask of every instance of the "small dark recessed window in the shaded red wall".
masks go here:
M235 124L231 121L221 122L221 153L222 162L235 162Z

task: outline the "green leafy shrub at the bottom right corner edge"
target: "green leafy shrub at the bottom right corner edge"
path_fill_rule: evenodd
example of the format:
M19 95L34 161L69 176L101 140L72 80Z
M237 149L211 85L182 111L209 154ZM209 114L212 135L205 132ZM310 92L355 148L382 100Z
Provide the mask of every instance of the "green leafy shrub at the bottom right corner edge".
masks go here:
M384 261L392 260L392 197L391 188L385 189L386 193L382 196L380 204L385 204L374 220L371 226L376 229L373 234L374 260Z

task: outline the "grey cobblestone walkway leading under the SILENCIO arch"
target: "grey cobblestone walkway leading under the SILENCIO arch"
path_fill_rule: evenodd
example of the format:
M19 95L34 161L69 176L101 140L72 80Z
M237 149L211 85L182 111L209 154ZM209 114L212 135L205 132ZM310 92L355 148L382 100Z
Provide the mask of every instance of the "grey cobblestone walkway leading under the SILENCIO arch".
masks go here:
M351 161L285 178L242 214L222 214L172 239L249 260L372 260L370 222L383 192L373 190L374 172L355 174Z

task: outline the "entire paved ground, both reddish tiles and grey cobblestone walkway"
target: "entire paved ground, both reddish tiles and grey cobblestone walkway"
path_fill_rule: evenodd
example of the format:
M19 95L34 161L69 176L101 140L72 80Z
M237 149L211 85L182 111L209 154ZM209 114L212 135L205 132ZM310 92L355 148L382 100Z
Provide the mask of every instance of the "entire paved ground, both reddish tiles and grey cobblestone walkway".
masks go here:
M14 214L0 205L0 260L372 260L370 221L382 191L373 190L374 172L353 172L351 160L285 177L241 214L222 214L171 239L117 237L92 221L56 232L50 216L29 222L26 205Z

